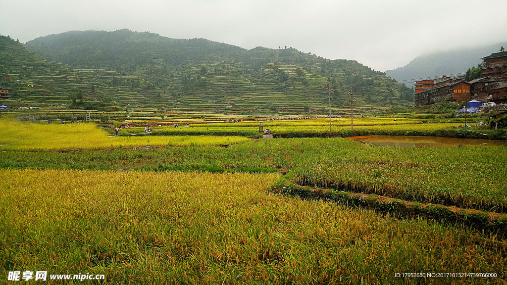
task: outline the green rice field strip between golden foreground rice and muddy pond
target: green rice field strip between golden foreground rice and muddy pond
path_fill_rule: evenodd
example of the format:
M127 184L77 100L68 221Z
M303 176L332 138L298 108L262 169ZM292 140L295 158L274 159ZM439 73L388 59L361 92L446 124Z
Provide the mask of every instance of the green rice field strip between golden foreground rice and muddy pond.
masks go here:
M304 185L506 212L506 157L504 147L371 147L345 138L300 138L252 140L228 148L195 145L67 153L7 150L0 167L293 169L297 182Z

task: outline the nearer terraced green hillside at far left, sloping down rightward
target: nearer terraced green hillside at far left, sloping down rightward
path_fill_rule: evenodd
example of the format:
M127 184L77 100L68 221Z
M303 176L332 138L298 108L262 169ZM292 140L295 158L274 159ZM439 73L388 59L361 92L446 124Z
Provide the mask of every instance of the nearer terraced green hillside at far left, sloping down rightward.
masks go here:
M154 105L144 96L150 96L149 83L142 78L49 61L4 36L0 36L0 62L2 84L11 88L11 100L0 103L11 108L65 104L79 109L114 110L130 103Z

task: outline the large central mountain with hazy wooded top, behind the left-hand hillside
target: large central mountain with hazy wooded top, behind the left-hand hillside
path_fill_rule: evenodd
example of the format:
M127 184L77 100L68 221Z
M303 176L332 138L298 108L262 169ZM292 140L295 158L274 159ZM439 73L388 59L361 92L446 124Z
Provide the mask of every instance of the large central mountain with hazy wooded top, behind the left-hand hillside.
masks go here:
M114 94L103 92L101 99L134 108L137 101L129 100L128 92L172 109L303 113L327 105L328 84L336 106L349 103L351 89L358 104L413 102L412 89L384 73L354 60L328 60L292 47L245 50L205 39L170 39L127 29L69 31L24 46L52 62L117 74L107 80L95 77L97 84L102 81L119 88ZM118 92L125 94L118 96Z

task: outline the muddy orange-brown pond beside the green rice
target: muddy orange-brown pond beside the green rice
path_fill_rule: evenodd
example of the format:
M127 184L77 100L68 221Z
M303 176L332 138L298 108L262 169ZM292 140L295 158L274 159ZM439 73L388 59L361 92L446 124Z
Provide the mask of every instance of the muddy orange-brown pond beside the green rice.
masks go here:
M377 147L502 147L505 140L454 138L438 136L364 135L351 136L350 139L373 144Z

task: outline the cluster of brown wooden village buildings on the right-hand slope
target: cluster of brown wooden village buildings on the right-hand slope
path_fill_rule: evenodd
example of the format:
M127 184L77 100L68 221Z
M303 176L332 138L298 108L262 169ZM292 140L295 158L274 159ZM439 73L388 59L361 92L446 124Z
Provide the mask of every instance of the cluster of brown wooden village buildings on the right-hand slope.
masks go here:
M433 104L439 101L477 100L483 104L507 103L507 51L481 58L482 76L470 81L465 77L439 77L415 83L417 105Z

